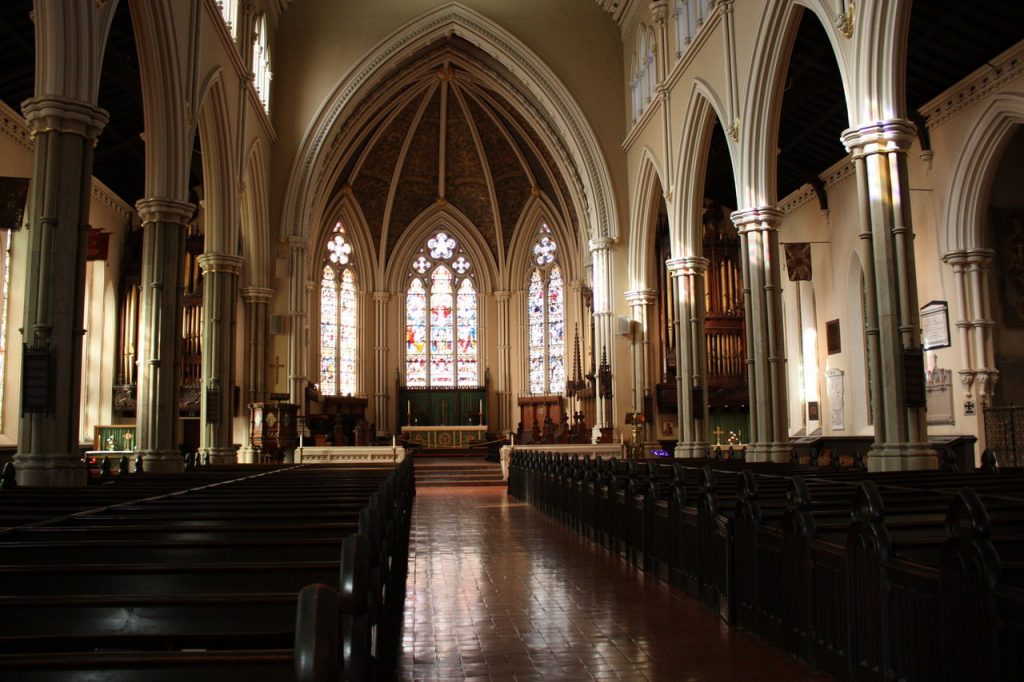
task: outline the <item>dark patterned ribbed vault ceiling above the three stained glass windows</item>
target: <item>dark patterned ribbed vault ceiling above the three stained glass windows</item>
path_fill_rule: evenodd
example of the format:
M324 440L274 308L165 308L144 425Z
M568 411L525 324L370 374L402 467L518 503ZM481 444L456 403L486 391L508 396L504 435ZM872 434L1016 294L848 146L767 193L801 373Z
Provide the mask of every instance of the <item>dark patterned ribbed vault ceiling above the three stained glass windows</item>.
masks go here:
M522 102L463 42L449 39L398 69L366 98L370 111L346 136L334 191L351 194L385 259L435 206L462 212L497 262L507 260L531 198L550 202L571 233L579 229L568 183Z

